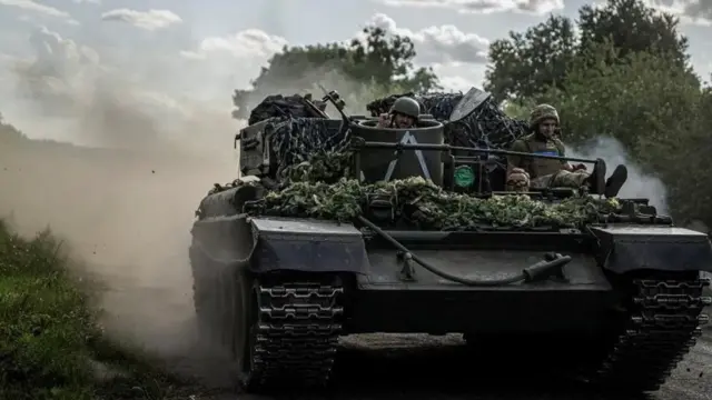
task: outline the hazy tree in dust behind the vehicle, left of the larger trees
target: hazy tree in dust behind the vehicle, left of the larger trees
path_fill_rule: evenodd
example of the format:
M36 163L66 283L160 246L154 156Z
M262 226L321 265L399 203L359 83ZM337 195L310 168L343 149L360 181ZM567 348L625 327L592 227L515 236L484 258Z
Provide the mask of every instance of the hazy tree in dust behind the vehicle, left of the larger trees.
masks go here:
M339 92L362 91L364 87L384 91L438 88L431 68L414 68L416 52L409 38L387 34L378 27L367 27L362 33L363 38L354 38L347 44L285 47L250 82L251 90L235 91L234 116L247 118L251 107L266 96L314 90L317 82Z

